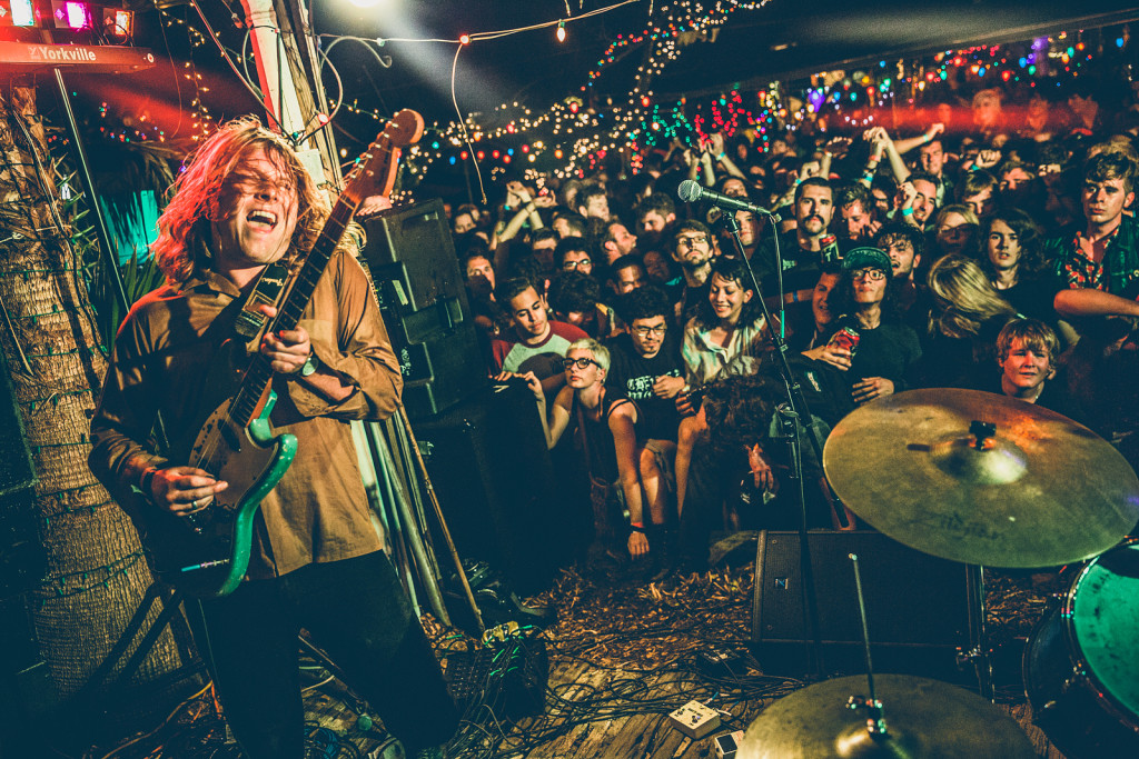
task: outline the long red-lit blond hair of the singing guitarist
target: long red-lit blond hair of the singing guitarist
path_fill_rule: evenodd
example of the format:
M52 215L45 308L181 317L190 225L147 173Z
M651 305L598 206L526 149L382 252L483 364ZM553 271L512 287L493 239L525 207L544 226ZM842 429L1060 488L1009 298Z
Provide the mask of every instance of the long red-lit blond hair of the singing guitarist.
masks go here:
M264 148L295 184L297 222L288 255L312 248L331 211L328 199L285 138L262 126L256 116L243 116L214 132L174 180L173 197L158 217L158 239L150 246L169 281L183 282L190 277L197 244L208 240L210 221L220 216L218 203L226 178L257 148Z

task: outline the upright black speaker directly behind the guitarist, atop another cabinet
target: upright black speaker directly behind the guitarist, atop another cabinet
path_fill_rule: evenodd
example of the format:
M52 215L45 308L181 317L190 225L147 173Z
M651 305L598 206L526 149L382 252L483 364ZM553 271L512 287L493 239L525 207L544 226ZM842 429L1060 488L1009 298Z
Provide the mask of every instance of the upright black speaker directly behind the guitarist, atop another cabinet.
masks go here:
M362 256L400 361L408 416L440 414L487 381L443 201L391 208L362 224Z

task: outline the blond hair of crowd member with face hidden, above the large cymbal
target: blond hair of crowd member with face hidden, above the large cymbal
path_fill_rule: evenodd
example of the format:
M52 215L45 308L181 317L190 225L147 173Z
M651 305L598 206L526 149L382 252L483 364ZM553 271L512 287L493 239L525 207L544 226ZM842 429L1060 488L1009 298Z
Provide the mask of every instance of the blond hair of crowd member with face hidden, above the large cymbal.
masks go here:
M947 337L976 337L981 325L995 316L1015 316L1016 310L993 288L981 265L965 256L943 256L929 269L934 310L929 331Z

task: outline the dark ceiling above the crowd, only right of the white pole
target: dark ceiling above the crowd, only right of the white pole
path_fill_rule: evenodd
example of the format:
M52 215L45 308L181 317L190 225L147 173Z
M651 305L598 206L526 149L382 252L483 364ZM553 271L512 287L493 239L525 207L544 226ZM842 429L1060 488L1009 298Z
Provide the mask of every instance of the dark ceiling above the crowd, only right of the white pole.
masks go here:
M369 18L347 10L346 0L317 0L319 32L361 36L453 39L462 32L487 32L549 22L565 15L565 0L412 3L390 0L390 10ZM608 5L570 0L575 14ZM547 107L579 91L588 72L618 34L645 28L652 3L642 0L567 26L568 40L558 44L554 30L543 28L476 42L459 56L456 91L464 110L485 110L497 104L524 100ZM711 5L711 3L706 3ZM655 5L659 14L665 3ZM843 63L920 55L977 42L1025 40L1059 30L1101 26L1139 17L1132 2L1089 0L948 0L918 2L885 0L851 3L844 0L770 0L755 10L729 15L714 42L696 42L655 81L658 94L716 91L724 84L767 83L787 74L808 74ZM351 75L347 90L361 102L374 99L384 110L410 106L435 118L453 117L450 73L453 46L390 42L393 59L382 68L366 51L339 44L331 58ZM624 96L642 61L644 46L624 48L620 59L595 83L605 94Z

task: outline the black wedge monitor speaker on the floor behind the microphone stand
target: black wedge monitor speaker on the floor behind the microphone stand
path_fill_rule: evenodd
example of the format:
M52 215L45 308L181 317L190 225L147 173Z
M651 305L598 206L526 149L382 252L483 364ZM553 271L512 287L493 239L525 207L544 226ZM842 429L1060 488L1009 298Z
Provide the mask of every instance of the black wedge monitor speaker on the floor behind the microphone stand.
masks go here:
M968 647L965 564L915 551L880 533L808 533L825 674L866 671L854 569L859 558L875 671L962 682ZM753 650L764 674L806 675L798 533L760 533L752 608ZM975 682L975 680L974 680Z

